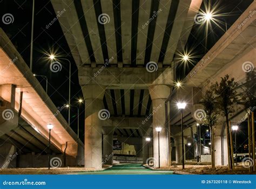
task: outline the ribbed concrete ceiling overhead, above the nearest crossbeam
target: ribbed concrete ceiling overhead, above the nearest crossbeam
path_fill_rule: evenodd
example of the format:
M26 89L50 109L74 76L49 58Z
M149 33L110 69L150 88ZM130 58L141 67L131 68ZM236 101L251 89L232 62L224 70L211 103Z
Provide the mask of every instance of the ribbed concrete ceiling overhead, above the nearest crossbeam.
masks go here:
M51 0L77 66L170 66L201 0ZM192 11L193 10L193 11ZM186 28L184 27L186 26ZM181 36L181 33L183 35ZM182 43L182 44L180 44Z

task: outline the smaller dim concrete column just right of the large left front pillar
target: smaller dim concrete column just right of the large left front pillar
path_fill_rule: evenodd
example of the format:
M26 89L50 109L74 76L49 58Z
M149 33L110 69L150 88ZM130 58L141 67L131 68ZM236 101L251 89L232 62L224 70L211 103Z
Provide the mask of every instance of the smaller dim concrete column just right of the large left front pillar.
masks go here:
M113 132L112 128L103 128L103 162L104 165L113 165Z

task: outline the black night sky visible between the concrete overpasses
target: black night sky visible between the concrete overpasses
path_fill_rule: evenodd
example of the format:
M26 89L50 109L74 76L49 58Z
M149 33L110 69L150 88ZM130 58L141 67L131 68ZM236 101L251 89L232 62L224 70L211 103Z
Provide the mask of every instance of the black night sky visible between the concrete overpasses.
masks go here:
M103 0L102 0L103 1ZM82 91L78 83L77 67L70 53L68 44L66 43L63 32L58 22L55 22L49 29L46 29L46 25L56 17L53 11L51 2L48 0L35 0L35 30L34 30L34 48L33 48L33 73L39 75L46 75L49 79L48 94L57 107L63 106L68 102L69 91L69 63L66 61L62 63L62 71L58 73L52 73L49 69L49 61L45 58L44 52L56 52L63 57L68 58L72 63L71 68L71 104L76 104L76 99L83 96ZM251 4L253 0L223 0L212 1L211 5L218 5L220 12L226 13L226 16L220 19L225 19L227 26L230 27L232 23L241 15L241 13ZM204 1L208 4L208 1ZM204 10L204 4L201 6ZM25 62L29 65L30 62L30 39L31 39L31 18L32 18L32 0L0 0L0 16L5 13L11 13L14 16L14 22L9 25L5 25L0 22L0 27L8 34L12 43L16 46L18 52L22 55ZM221 25L225 29L225 25ZM194 64L203 57L214 43L224 34L219 27L213 24L212 30L207 35L205 27L199 29L198 25L194 25L191 35L188 39L186 48L188 50L194 49L194 53L197 58L194 59ZM186 69L179 67L178 75L183 77L184 72L188 73L193 65L189 65ZM42 82L42 86L45 86L45 82L38 78ZM80 123L84 122L84 108L81 107ZM71 111L71 127L77 132L76 108ZM68 111L62 112L66 120L68 120ZM80 136L83 136L83 127L81 125ZM81 137L82 139L82 137Z

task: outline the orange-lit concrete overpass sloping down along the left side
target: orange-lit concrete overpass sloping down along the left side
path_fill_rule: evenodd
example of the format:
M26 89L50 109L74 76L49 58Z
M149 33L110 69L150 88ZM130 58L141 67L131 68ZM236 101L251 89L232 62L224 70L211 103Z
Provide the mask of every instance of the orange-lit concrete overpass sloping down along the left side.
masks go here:
M49 123L54 126L52 157L65 151L67 165L77 165L77 142L79 146L83 143L77 140L77 135L60 114L63 109L53 104L0 29L0 165L17 152L19 167L47 166L49 130L46 125Z

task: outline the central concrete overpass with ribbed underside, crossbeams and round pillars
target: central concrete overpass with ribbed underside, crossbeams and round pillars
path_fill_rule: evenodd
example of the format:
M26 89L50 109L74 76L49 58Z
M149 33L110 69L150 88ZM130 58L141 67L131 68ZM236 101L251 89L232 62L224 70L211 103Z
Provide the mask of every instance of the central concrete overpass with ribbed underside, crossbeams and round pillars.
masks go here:
M166 102L176 91L174 55L183 52L202 1L51 2L56 15L65 11L58 20L76 62L83 90L85 167L102 168L102 159L112 154L113 136L134 145L136 153L143 151L144 163L147 159L145 137L151 137L154 166L159 164L158 150L160 165L170 165L171 131L167 117L171 109L177 108ZM238 53L234 52L228 61ZM217 68L221 66L218 64ZM205 80L195 79L200 84ZM173 111L172 133L177 134L180 120L177 110ZM185 114L188 127L196 123L192 114L193 111ZM160 149L157 127L162 128ZM193 128L188 128L185 135L193 136L193 132ZM174 138L176 160L181 154L180 138L179 134ZM108 163L112 163L112 158Z

